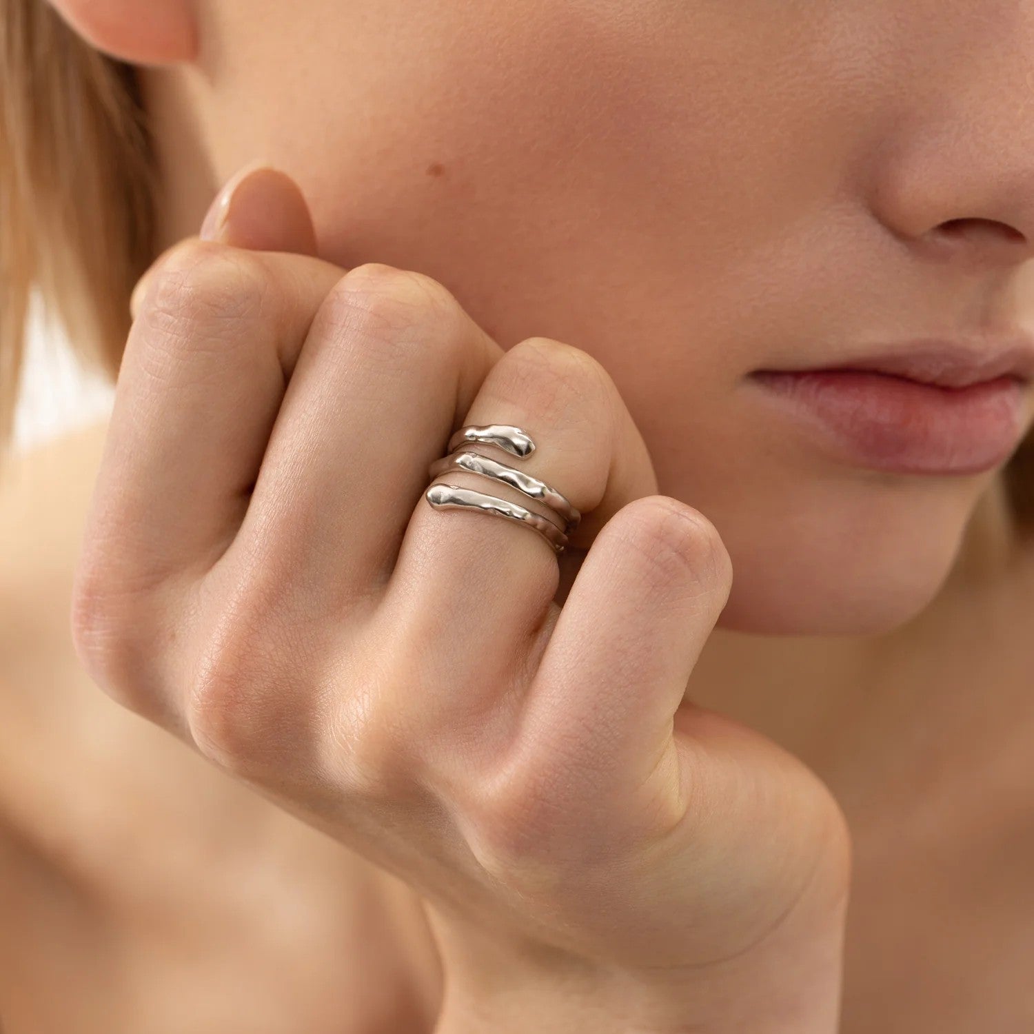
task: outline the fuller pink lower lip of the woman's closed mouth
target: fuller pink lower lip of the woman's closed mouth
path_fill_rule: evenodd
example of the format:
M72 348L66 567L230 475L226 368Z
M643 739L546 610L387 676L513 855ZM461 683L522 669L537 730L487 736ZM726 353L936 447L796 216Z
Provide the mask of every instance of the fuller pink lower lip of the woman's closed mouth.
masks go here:
M852 462L899 474L978 474L1020 443L1026 385L939 388L870 370L758 370L754 381Z

